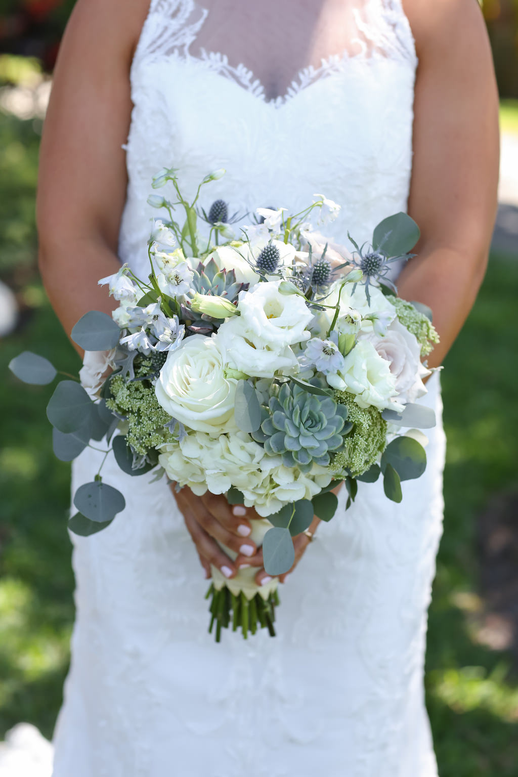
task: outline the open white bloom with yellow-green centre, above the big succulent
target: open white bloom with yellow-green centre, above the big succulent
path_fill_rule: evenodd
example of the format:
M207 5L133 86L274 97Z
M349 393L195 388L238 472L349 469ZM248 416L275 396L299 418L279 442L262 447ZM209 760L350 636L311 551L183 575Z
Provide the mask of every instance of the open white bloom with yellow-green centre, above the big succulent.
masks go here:
M302 343L311 336L307 327L313 314L300 294L280 293L282 282L269 280L238 296L242 329L270 347Z

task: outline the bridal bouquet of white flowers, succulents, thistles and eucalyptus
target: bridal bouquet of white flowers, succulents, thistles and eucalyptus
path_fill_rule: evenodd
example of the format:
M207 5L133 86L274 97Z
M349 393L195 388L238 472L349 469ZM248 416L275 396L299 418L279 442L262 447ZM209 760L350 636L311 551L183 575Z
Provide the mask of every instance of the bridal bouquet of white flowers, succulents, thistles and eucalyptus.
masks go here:
M229 625L245 637L258 625L275 633L292 538L314 515L333 517L335 486L344 483L349 507L358 480L382 476L399 502L401 481L422 475L419 430L435 419L415 400L429 375L422 357L438 340L428 309L398 298L388 279L419 238L408 215L386 218L367 245L348 235L349 252L312 228L339 210L315 195L297 214L258 208L236 237L223 200L208 214L196 207L201 187L223 172L206 176L192 202L175 170L155 176L153 187L171 183L174 196L148 200L166 214L152 227L148 277L123 265L99 280L119 306L111 317L91 311L72 329L85 350L81 382L59 382L47 406L64 461L104 440L130 476L153 470L176 489L255 508L252 539L273 579L259 587L253 568L228 580L212 567L217 641ZM29 383L57 374L30 352L10 367ZM101 531L125 507L100 472L75 493L68 525L78 535Z

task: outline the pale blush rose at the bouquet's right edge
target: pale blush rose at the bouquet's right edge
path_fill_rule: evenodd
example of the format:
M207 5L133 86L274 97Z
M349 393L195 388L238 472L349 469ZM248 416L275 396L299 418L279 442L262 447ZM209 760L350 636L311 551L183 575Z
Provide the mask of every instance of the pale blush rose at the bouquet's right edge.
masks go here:
M421 347L398 319L391 323L384 336L372 333L361 337L372 343L377 353L388 361L395 378L398 402L415 402L426 394L422 378L430 372L421 363Z

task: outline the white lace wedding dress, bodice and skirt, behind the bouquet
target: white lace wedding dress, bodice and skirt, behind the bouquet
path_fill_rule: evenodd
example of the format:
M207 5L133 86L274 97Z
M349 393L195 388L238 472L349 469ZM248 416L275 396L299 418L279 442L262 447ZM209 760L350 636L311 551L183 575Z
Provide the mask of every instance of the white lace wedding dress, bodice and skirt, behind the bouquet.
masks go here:
M179 169L230 211L285 206L323 192L332 226L363 242L405 210L412 166L416 56L400 0L346 0L347 41L299 71L276 99L243 65L207 51L210 13L151 0L134 54L129 186L120 257L146 272L151 176ZM209 26L210 29L210 26ZM249 220L249 218L247 219ZM322 524L284 587L278 636L207 633L207 582L165 482L106 483L127 508L91 538L73 537L77 620L54 777L435 777L423 702L426 609L443 510L438 375L426 474L401 504L360 483ZM74 488L98 454L75 462Z

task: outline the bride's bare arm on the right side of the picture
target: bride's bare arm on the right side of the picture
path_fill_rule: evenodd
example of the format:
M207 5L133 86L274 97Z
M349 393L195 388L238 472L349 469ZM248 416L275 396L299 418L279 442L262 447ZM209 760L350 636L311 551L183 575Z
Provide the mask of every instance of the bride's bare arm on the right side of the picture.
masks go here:
M398 280L433 310L441 364L485 274L499 172L498 92L475 0L405 0L419 67L408 213L422 237Z

